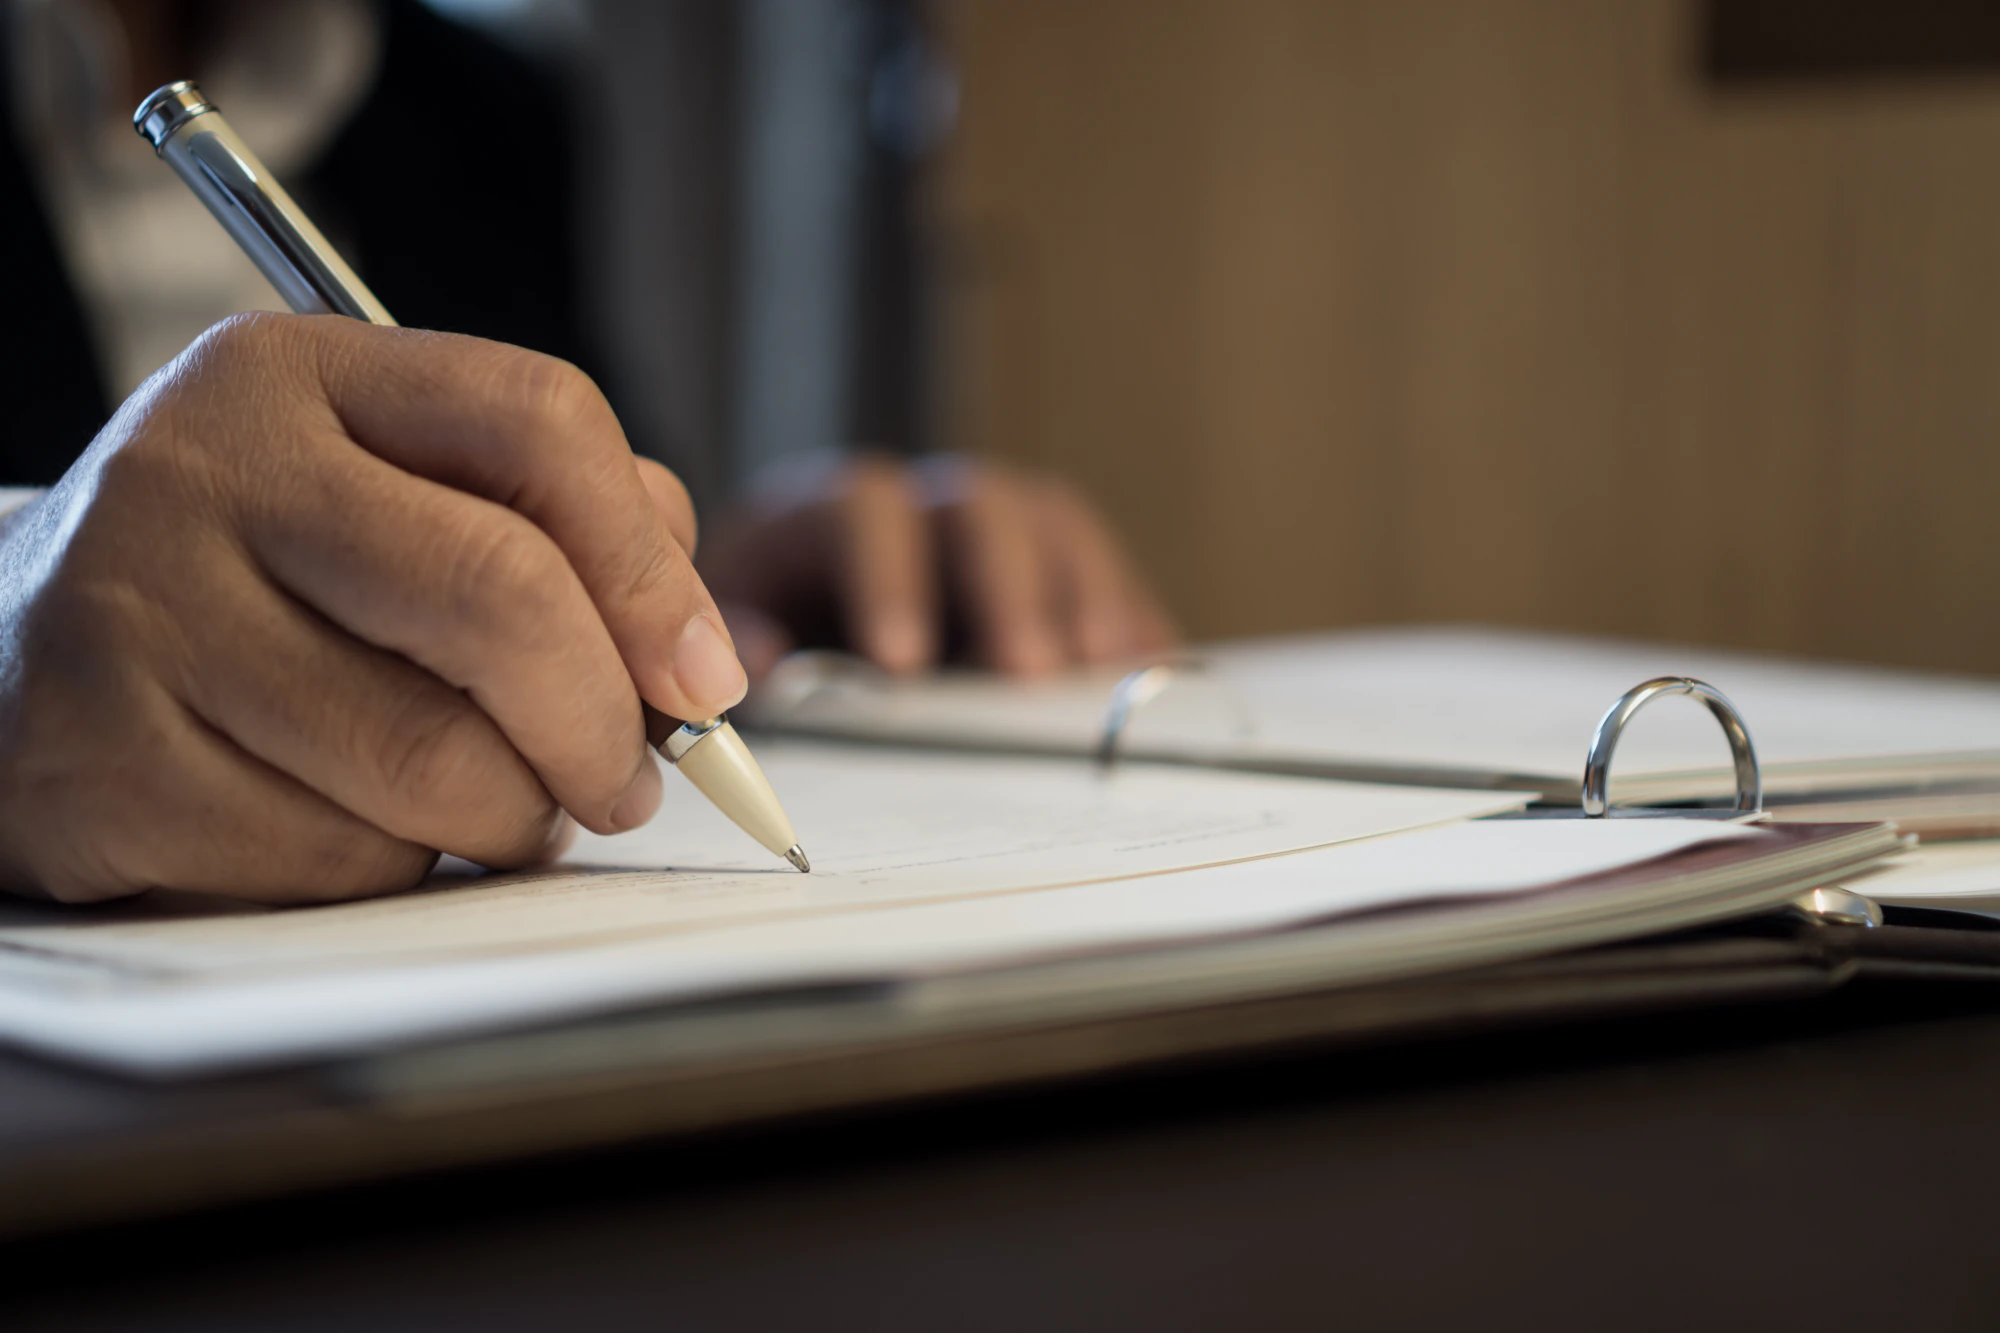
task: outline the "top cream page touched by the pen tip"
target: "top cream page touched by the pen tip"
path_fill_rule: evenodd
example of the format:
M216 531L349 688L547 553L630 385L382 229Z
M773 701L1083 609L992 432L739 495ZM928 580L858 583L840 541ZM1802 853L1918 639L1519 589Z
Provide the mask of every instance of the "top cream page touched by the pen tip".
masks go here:
M620 837L582 835L566 865L434 877L422 891L318 909L172 905L76 913L0 909L12 957L92 985L296 975L304 969L544 955L722 925L822 919L898 903L1020 893L1272 857L1492 815L1518 797L1076 761L764 743L760 761L812 857L770 857L668 775L660 815Z

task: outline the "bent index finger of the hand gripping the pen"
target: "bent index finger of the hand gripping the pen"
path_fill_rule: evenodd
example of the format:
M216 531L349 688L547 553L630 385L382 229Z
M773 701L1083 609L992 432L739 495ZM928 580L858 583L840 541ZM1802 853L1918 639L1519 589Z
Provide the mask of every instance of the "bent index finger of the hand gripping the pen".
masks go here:
M742 701L748 679L722 614L590 376L482 338L320 318L342 326L320 382L362 448L542 528L646 703L704 719Z

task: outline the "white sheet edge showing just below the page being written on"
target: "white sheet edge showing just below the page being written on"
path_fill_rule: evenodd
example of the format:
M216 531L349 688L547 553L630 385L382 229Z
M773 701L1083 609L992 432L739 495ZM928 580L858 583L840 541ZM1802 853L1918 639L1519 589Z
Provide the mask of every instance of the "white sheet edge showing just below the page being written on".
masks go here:
M202 981L126 973L60 993L0 985L0 1033L128 1071L216 1071L638 1003L892 981L1518 893L1744 833L1706 821L1460 823L1170 875L774 917L448 965L226 971Z

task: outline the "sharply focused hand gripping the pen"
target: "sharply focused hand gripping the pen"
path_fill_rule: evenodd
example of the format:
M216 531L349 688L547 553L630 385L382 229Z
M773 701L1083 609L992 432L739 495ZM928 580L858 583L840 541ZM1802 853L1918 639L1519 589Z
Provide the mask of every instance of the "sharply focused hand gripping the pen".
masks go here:
M0 883L346 899L630 829L640 697L744 693L692 548L564 362L218 324L0 536Z

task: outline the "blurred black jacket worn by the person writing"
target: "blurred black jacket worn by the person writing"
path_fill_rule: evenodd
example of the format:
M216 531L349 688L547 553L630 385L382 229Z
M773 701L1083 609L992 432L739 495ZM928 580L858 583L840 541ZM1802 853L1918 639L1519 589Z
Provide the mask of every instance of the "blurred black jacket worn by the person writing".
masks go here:
M382 22L374 88L288 188L398 322L590 370L560 80L416 0L388 0ZM10 68L0 44L0 114ZM112 404L12 122L0 124L0 484L44 486Z

